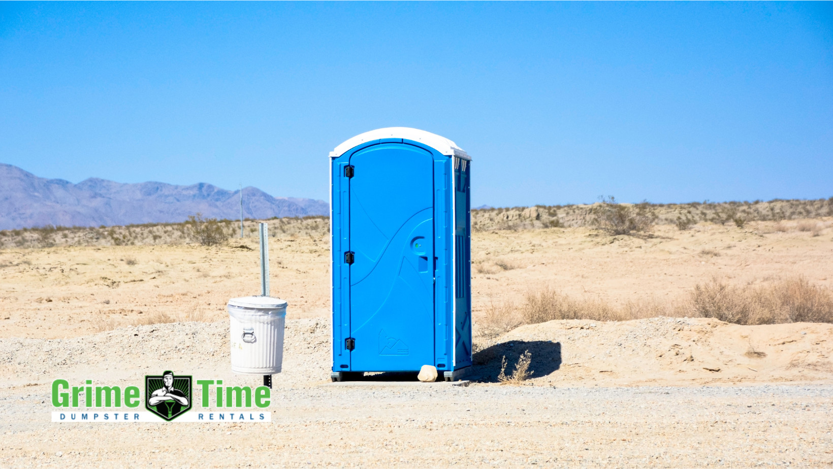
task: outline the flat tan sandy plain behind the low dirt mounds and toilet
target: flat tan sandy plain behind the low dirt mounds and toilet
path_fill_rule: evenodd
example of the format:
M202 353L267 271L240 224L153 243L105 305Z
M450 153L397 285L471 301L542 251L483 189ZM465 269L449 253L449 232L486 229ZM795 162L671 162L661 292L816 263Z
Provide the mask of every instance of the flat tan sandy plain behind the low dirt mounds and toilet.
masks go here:
M833 287L833 228L813 236L791 223L791 232L769 232L774 223L767 222L746 229L701 224L686 232L659 226L646 238L586 228L476 232L474 314L544 284L613 304L676 302L711 277L741 284L801 275ZM232 247L238 245L252 250ZM329 240L278 238L270 249L272 293L289 302L289 317L326 317ZM227 317L228 298L259 293L258 262L252 237L224 247L2 250L0 337L74 337L157 312L217 321Z

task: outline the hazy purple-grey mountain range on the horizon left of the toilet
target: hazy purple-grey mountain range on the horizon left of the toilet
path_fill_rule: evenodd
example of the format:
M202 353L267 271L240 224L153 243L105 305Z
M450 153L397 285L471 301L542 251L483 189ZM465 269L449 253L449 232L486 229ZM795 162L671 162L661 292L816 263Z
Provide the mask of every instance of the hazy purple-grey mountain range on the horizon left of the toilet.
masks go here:
M197 212L209 218L238 218L240 191L204 182L192 186L122 184L96 177L73 184L0 163L0 230L182 222ZM272 197L257 187L243 188L243 217L304 217L329 212L329 204L322 200Z

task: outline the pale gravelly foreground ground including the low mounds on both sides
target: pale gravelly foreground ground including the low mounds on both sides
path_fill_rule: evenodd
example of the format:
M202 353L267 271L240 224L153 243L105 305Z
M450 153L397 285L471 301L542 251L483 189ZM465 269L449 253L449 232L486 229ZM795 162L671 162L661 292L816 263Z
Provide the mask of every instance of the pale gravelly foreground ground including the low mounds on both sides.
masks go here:
M228 369L227 323L2 339L0 466L144 467L160 458L174 467L833 464L828 324L777 330L706 319L547 322L509 332L480 352L477 382L467 387L328 382L329 338L326 321L287 322L272 424L117 426L48 422L48 379L124 387L173 367L255 386L259 377ZM747 338L758 352L769 351L766 357L749 357ZM532 379L497 384L501 357L524 350L533 354ZM677 386L656 386L666 383ZM738 383L746 386L726 386Z

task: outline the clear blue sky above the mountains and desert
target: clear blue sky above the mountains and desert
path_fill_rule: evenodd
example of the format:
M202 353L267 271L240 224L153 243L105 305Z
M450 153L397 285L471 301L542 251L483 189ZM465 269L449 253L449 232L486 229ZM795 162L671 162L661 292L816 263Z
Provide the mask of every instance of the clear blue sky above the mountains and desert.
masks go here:
M418 127L496 207L833 196L833 4L0 2L0 162L327 199Z

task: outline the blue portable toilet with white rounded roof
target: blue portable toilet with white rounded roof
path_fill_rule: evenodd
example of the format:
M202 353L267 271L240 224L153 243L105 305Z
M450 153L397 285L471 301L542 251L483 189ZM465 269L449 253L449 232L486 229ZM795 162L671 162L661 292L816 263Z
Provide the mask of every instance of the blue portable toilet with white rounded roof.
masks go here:
M471 157L408 127L330 152L332 381L471 370Z

